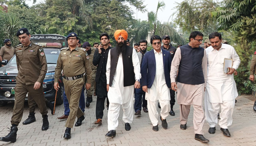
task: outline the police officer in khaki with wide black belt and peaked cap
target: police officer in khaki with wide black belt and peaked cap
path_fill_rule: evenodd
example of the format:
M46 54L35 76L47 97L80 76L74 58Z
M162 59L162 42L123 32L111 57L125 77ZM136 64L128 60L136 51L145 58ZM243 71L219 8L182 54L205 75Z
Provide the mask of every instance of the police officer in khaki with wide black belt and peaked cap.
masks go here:
M79 99L84 84L85 72L87 76L86 90L91 87L91 64L86 50L76 46L79 40L74 32L67 36L67 41L69 47L61 49L54 76L54 89L58 91L60 88L58 81L63 70L63 84L70 109L65 124L67 129L63 138L71 138L70 131L73 128L76 117L78 118L76 123L82 123L84 120L83 111L79 108Z

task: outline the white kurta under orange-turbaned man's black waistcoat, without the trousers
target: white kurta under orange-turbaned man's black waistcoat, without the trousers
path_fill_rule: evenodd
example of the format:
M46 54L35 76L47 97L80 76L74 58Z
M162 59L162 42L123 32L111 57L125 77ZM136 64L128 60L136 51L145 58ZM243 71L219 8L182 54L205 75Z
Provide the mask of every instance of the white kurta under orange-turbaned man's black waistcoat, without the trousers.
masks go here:
M108 62L106 66L107 84L109 84L109 76L110 76L110 62L111 62L110 51L111 49L109 50ZM134 68L135 79L139 80L141 77L140 63L139 63L138 55L134 49L132 50L132 64ZM122 57L122 53L120 53L117 66L116 66L116 72L114 74L114 78L112 82L112 86L109 87L109 91L108 91L109 103L118 103L118 104L127 103L130 98L133 98L133 93L134 93L134 85L124 87L123 57Z

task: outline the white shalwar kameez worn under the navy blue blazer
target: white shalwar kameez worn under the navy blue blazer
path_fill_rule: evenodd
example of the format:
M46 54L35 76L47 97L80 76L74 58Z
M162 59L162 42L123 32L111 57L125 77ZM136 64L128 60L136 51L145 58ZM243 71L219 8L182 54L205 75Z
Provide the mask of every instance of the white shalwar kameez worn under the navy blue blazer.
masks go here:
M163 68L163 54L161 52L155 53L155 79L151 88L148 88L148 91L145 95L148 105L148 115L153 126L158 124L158 112L157 112L157 100L161 106L161 117L166 119L169 115L170 109L170 89L166 85L165 73ZM154 66L151 66L154 67Z

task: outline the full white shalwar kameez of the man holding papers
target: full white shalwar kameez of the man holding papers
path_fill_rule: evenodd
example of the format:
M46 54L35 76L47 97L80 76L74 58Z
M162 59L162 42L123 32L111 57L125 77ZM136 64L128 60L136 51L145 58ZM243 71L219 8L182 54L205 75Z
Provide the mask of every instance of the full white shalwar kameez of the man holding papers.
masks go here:
M223 62L224 58L232 58L232 68L237 69L240 58L234 47L227 44L222 44L219 51L210 46L206 49L206 54L208 68L204 96L206 121L210 127L215 127L218 124L217 116L221 107L219 126L226 129L232 124L235 98L238 93L234 75L223 73Z

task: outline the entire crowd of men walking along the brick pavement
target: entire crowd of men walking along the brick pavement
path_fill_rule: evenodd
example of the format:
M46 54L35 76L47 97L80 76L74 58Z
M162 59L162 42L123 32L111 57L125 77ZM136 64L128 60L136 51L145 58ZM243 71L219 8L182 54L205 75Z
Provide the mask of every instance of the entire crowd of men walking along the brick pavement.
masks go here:
M16 77L11 131L7 136L0 138L0 141L5 142L16 141L27 92L30 94L29 102L34 103L30 105L36 103L42 114L42 131L49 128L46 105L52 110L52 103L45 100L42 88L47 71L44 49L30 41L31 36L27 28L18 30L16 36L21 42L20 45L14 49L11 47L10 39L7 39L4 41L6 46L0 50L0 60L10 60L16 54L19 71ZM238 96L233 74L240 64L240 58L234 47L222 42L220 33L211 33L204 43L205 48L202 48L200 45L203 34L193 31L189 36L189 43L179 45L177 49L170 43L169 35L162 38L153 35L150 39L153 49L150 51L147 51L148 42L144 39L130 47L128 33L125 30L116 30L114 38L117 42L116 47L110 46L110 38L106 33L100 34L100 44L94 43L91 47L89 42L81 44L75 32L68 34L68 47L61 49L54 76L56 91L60 88L59 78L63 77L65 111L64 115L58 117L67 119L63 138L71 138L71 128L76 117L75 126L81 126L85 119L85 107L89 107L93 101L94 90L97 96L94 124L102 124L107 99L109 131L106 137L116 136L121 106L125 130L131 129L133 115L140 116L143 110L148 113L152 129L158 131L157 107L161 108L161 126L167 129L168 115L175 116L175 92L180 107L181 130L187 129L192 105L196 140L209 142L203 136L205 120L209 125L210 134L215 133L219 124L223 135L231 136L228 127L233 121L235 98ZM252 81L253 74L256 73L255 56L251 64ZM224 58L233 61L233 66L229 67L227 73L223 72ZM84 88L87 93L86 101ZM34 108L31 109L29 118L23 124L35 121ZM253 110L256 111L256 101Z

